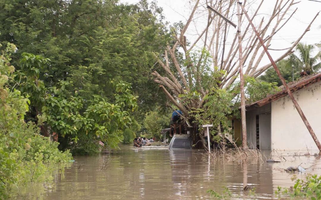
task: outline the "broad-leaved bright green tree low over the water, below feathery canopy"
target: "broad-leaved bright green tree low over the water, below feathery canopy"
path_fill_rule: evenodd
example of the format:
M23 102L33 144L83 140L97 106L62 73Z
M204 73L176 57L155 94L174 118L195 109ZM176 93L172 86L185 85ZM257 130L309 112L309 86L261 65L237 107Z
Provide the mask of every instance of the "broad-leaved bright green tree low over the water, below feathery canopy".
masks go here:
M130 113L137 108L137 97L132 94L129 84L122 81L113 83L115 103L98 95L94 95L92 100L86 100L78 92L69 95L63 87L68 85L65 82L59 89L51 88L53 94L48 96L43 113L51 129L60 133L62 149L69 148L71 141L75 142L71 148L77 149L82 144L78 145L78 140L87 141L87 137L91 137L93 143L101 140L112 148L123 140L123 130L133 122Z

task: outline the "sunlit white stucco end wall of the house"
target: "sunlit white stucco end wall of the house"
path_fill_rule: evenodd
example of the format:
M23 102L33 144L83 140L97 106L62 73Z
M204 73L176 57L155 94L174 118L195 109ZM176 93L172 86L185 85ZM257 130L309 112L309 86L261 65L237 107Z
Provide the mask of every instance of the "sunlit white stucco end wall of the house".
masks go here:
M321 82L293 93L321 141ZM289 96L271 104L271 149L306 150L317 146Z

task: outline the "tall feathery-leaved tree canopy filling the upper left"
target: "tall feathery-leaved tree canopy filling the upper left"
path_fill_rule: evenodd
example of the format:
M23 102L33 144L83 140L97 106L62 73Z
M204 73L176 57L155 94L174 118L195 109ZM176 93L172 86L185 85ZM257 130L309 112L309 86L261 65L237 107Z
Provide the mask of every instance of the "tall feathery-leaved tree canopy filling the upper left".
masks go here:
M73 89L88 98L92 94L110 98L109 81L122 77L136 95L155 89L146 92L145 85L150 84L146 75L154 64L151 52L166 38L155 4L4 0L0 7L5 11L0 14L0 37L18 47L13 62L19 62L23 52L51 60L40 70L46 87L69 78ZM139 102L150 103L144 96Z

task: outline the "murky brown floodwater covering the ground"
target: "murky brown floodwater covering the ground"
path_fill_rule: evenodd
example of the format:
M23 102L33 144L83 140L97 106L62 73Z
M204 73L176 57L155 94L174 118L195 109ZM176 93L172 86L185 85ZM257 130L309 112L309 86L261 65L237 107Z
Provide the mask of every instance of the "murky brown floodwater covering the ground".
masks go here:
M232 199L271 199L277 198L274 191L278 186L294 184L291 181L293 173L283 169L302 163L301 166L308 169L295 173L298 178L304 178L308 173L321 173L319 157L293 156L299 152L274 152L273 158L282 160L281 163L256 159L249 159L247 163L227 160L213 163L198 150L120 148L105 151L100 156L75 156L72 166L58 174L54 181L41 186L29 185L23 198L211 199L206 190L222 194L227 187L232 192ZM266 157L270 155L270 152L263 153ZM255 187L255 193L243 192L243 184Z

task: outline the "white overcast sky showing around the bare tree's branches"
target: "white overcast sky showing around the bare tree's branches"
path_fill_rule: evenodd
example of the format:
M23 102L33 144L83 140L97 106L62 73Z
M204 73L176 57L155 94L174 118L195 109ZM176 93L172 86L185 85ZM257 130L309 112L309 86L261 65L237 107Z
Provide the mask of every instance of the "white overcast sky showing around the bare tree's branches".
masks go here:
M148 0L151 2L151 0ZM273 11L273 5L276 0L265 0L262 8L259 13L271 13ZM121 3L138 3L139 0L120 0ZM191 12L191 2L193 0L158 0L158 6L163 8L163 13L166 18L166 21L170 23L183 21L186 22L186 18L189 17ZM257 1L258 2L258 1ZM255 6L254 6L255 7ZM294 9L298 7L296 13L292 16L290 21L275 35L273 36L273 41L271 42L270 48L274 49L283 49L291 46L291 43L294 42L306 29L309 22L313 17L321 10L321 3L302 0L299 4L294 5ZM291 14L291 12L289 12ZM264 17L264 14L262 14ZM204 19L206 21L206 19ZM191 24L186 33L187 39L193 41L195 38L196 30L199 32L203 30L202 23L203 19L197 19L197 24ZM233 21L237 24L237 21ZM256 22L256 21L255 21ZM206 22L205 22L206 23ZM257 25L257 23L255 23ZM203 24L204 25L204 24ZM235 31L235 30L230 30ZM315 44L321 42L321 13L312 24L310 31L301 40L303 43ZM319 51L315 49L314 51ZM270 51L273 58L277 58L278 55L282 54L282 51ZM265 57L260 65L264 65L269 60Z

